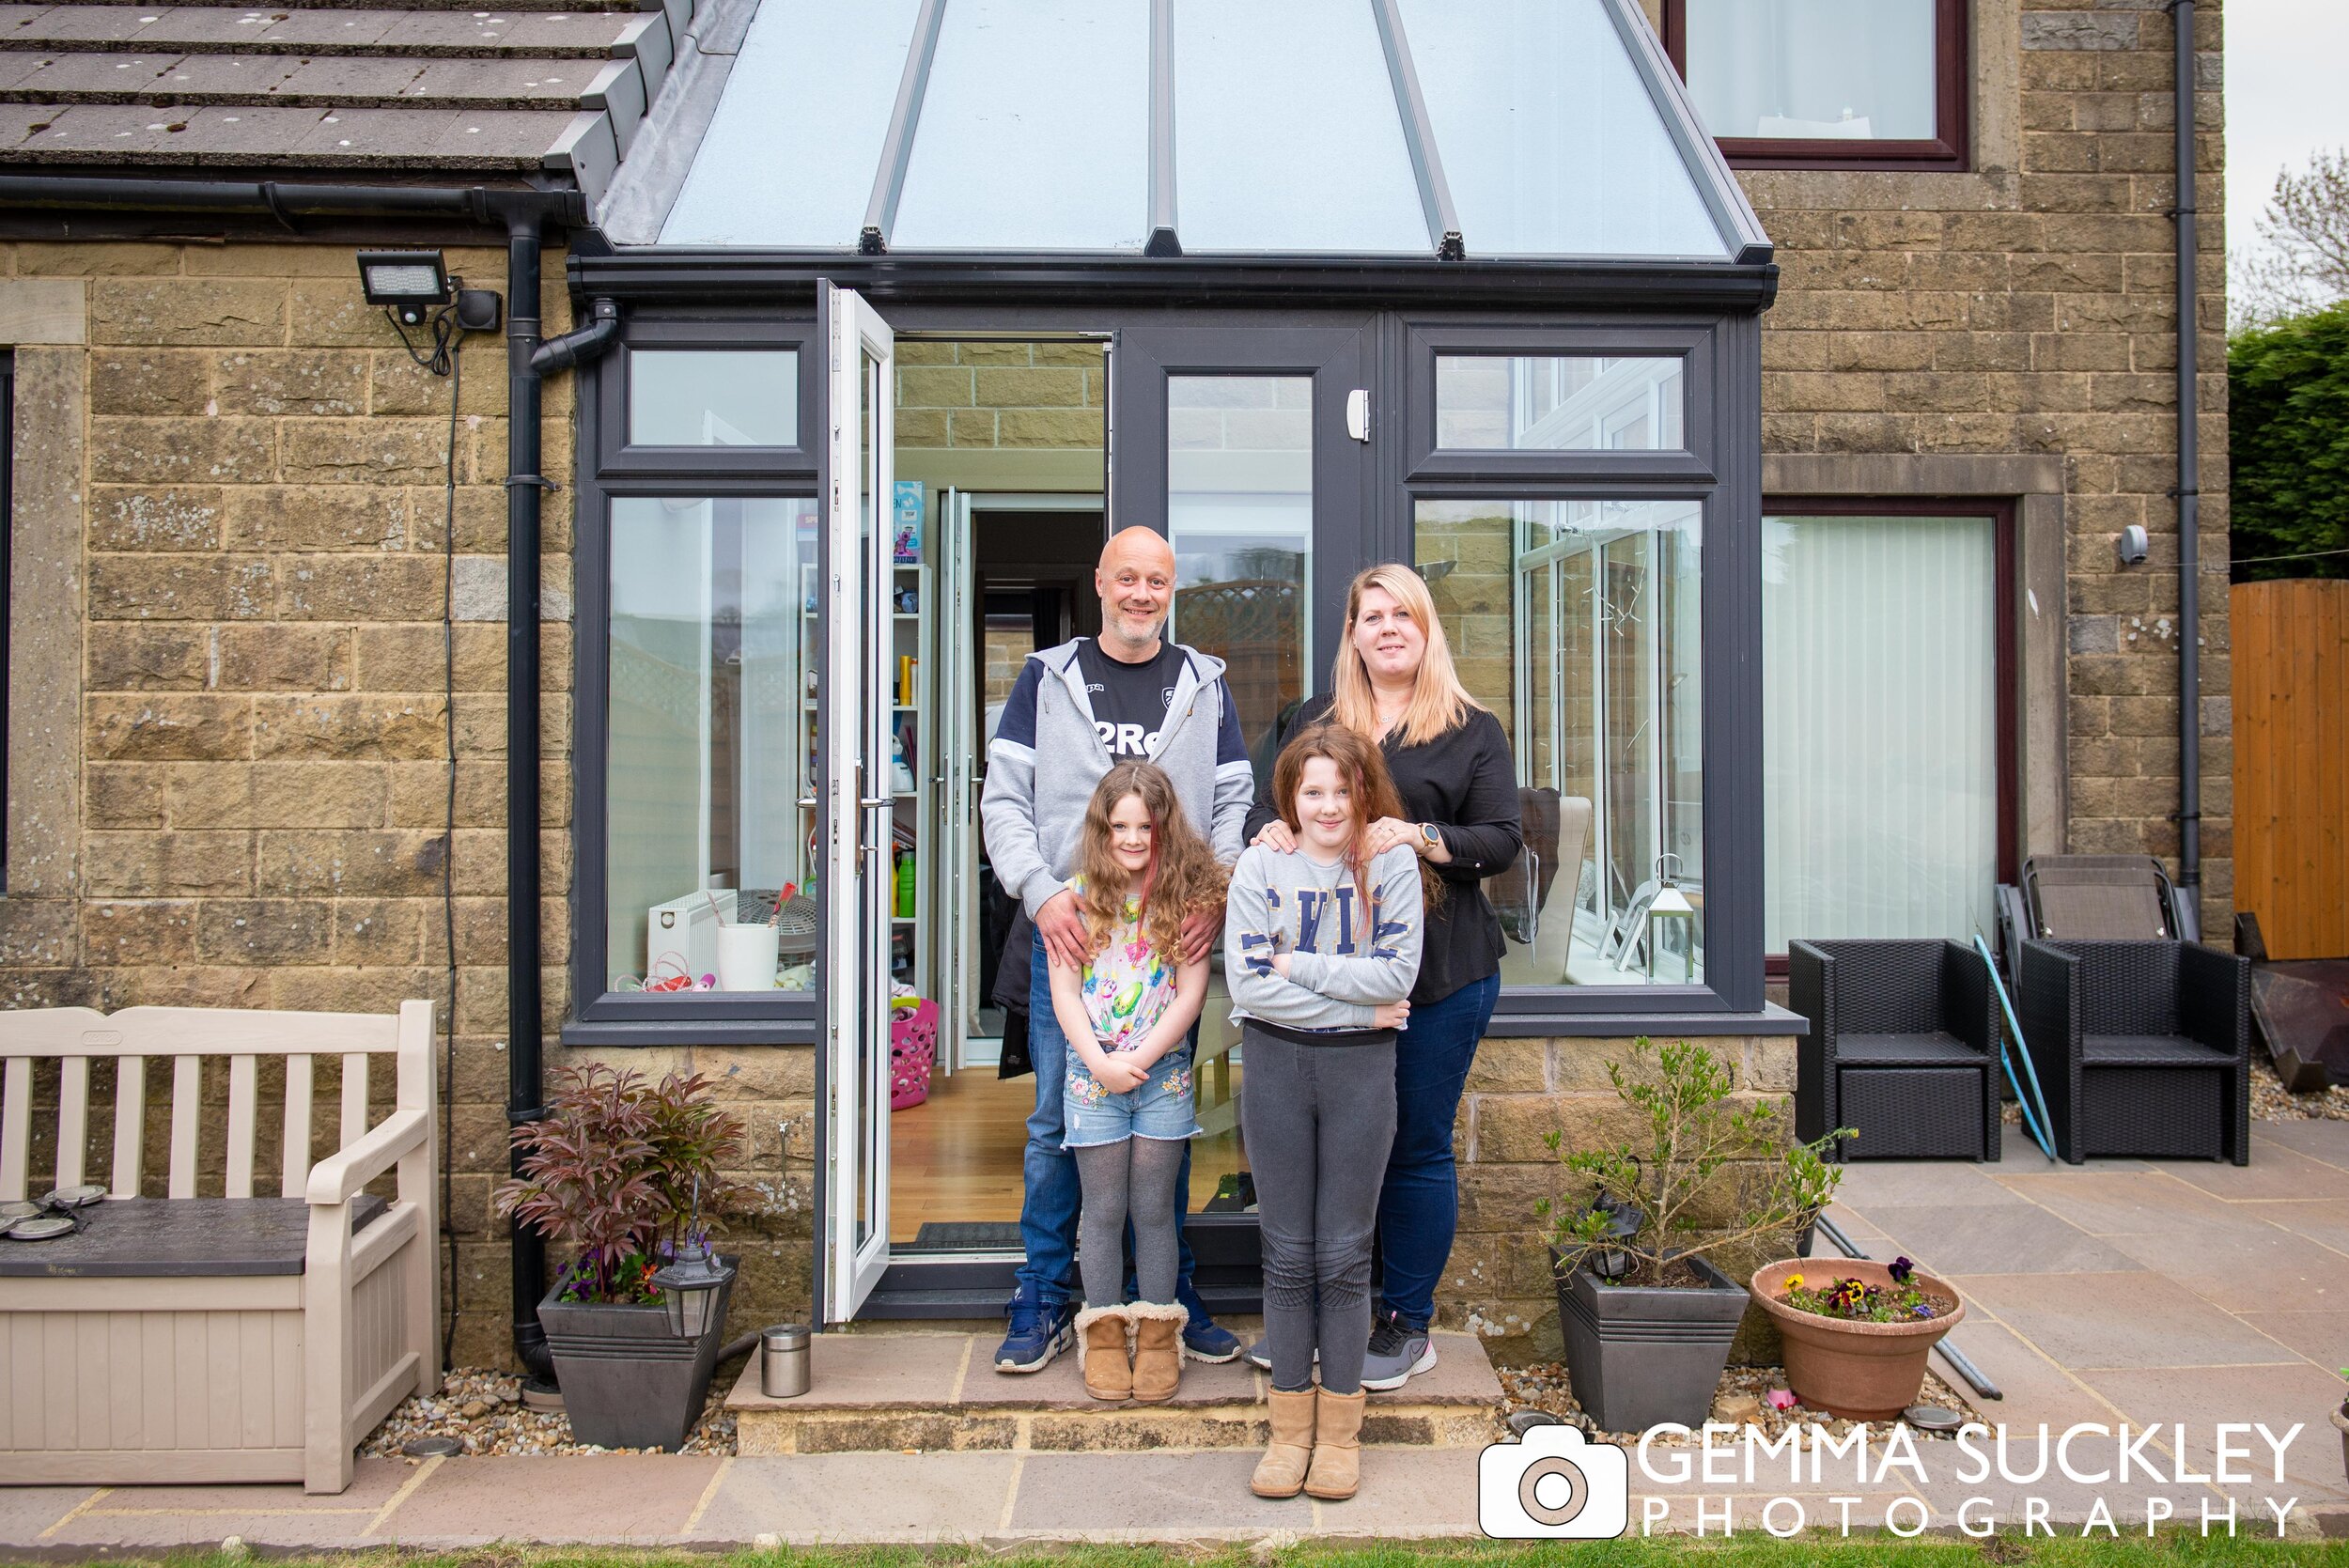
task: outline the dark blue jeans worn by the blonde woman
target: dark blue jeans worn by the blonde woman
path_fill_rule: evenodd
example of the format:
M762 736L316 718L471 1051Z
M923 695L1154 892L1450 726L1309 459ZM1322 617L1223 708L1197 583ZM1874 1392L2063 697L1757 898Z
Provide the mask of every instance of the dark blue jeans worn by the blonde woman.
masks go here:
M1395 1145L1379 1188L1379 1300L1407 1324L1435 1319L1435 1282L1452 1261L1461 1218L1452 1122L1499 1000L1499 974L1470 981L1414 1005L1395 1038Z

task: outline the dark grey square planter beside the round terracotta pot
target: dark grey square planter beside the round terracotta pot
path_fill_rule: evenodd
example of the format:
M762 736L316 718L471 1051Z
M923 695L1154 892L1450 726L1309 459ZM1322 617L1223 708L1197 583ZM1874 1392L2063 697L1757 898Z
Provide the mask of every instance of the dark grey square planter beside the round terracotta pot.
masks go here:
M1553 1272L1557 1253L1550 1253ZM1557 1326L1574 1399L1604 1432L1703 1425L1745 1319L1745 1286L1689 1258L1701 1291L1607 1284L1588 1268L1557 1275Z

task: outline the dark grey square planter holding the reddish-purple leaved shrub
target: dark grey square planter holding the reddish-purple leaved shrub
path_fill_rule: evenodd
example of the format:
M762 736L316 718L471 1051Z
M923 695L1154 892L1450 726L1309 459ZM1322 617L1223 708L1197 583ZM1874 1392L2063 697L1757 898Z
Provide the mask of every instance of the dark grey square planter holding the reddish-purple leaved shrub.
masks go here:
M669 1333L669 1310L634 1303L538 1303L554 1352L571 1437L599 1448L677 1451L709 1397L709 1376L726 1345L726 1305L735 1261L721 1258L726 1284L700 1338Z

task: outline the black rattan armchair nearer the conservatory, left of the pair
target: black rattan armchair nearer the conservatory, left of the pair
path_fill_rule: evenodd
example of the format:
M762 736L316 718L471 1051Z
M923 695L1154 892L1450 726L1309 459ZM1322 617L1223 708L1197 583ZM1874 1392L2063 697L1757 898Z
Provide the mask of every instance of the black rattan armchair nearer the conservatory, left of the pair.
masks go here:
M1842 1160L1997 1160L1999 1014L1957 941L1790 941L1795 1136L1858 1136Z

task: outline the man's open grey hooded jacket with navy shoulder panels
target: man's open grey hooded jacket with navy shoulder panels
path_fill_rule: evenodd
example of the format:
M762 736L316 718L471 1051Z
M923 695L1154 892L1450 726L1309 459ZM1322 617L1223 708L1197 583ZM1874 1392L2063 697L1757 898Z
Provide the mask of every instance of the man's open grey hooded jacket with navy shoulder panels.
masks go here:
M1095 730L1092 697L1085 695L1078 641L1027 657L987 746L987 791L980 796L987 864L1031 920L1069 885L1085 805L1111 765L1109 746ZM1224 660L1177 648L1182 674L1174 676L1174 699L1151 761L1174 779L1174 798L1191 826L1229 866L1240 857L1257 775L1247 765L1231 688L1224 685Z

